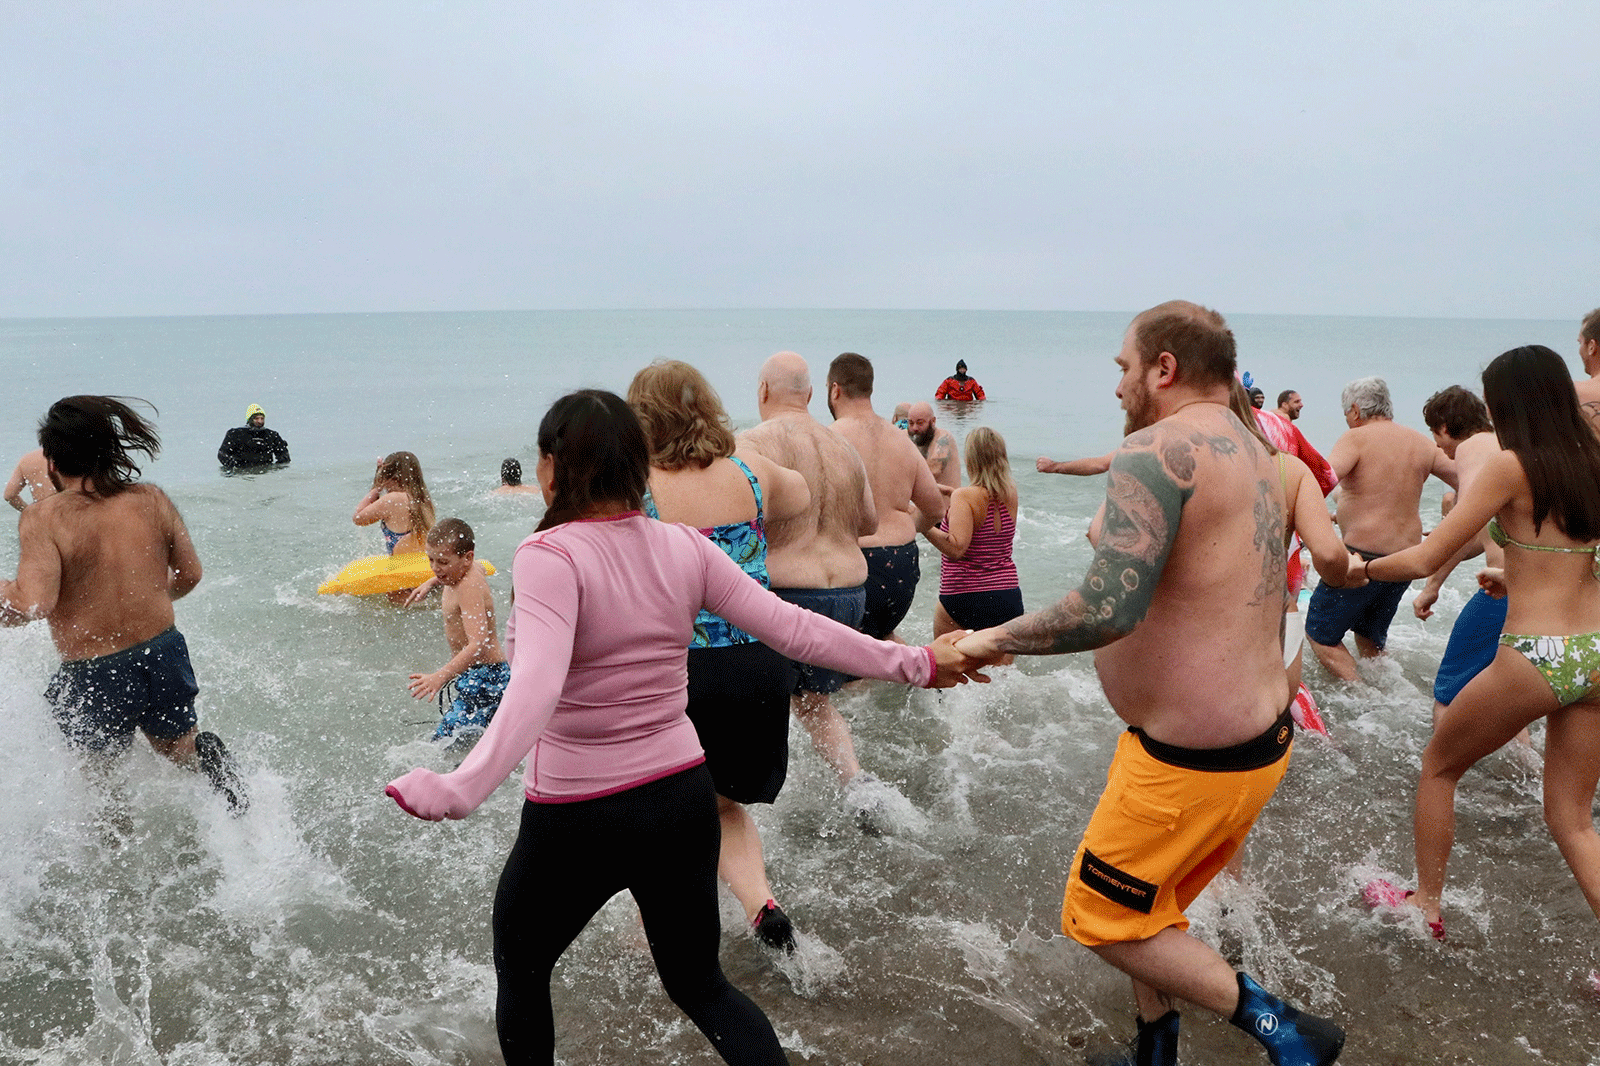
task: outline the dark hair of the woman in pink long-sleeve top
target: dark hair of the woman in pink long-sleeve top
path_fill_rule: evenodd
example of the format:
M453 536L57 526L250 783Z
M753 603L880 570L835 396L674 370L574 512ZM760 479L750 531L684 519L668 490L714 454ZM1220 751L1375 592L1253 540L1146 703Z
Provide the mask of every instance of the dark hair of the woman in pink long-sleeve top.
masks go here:
M539 530L602 504L645 504L650 445L634 408L614 392L579 389L552 403L539 423L539 455L555 461L555 491Z

